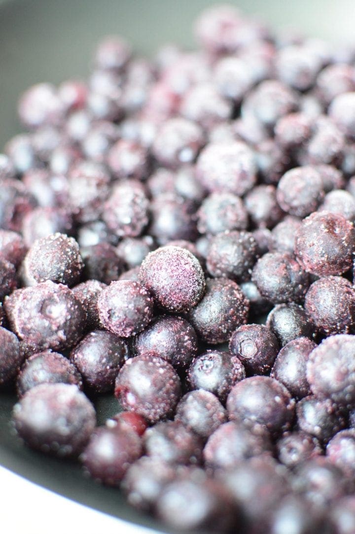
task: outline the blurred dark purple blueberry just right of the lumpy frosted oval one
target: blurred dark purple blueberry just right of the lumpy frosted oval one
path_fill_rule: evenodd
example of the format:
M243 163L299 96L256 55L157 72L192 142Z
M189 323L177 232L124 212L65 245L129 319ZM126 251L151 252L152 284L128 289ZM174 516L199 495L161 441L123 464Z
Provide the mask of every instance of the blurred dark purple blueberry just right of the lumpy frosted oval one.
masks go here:
M148 232L159 245L180 239L195 241L198 232L193 202L175 194L163 194L151 202L150 208L151 224Z

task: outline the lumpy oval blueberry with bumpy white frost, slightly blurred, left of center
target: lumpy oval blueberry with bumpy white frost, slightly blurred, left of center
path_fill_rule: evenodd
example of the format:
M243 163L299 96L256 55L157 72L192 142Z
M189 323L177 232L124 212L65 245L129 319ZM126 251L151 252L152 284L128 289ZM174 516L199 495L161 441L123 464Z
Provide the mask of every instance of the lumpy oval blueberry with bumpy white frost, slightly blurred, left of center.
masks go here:
M130 180L115 185L102 218L119 237L140 235L148 223L148 199L140 182Z

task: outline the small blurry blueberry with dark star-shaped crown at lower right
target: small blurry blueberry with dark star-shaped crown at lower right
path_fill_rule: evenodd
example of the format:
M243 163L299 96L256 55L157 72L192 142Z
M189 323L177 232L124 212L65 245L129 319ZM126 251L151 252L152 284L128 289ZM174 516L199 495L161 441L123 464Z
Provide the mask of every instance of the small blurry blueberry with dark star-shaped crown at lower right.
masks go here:
M315 456L324 454L318 439L302 430L281 437L276 446L279 461L290 469Z

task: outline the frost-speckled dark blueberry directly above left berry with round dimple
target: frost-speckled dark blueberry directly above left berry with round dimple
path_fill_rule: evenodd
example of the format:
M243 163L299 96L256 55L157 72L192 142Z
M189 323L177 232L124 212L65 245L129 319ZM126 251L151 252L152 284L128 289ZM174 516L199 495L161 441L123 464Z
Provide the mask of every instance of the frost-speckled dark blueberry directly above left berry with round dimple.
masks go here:
M59 232L36 240L23 261L26 276L37 283L52 280L73 286L80 281L83 268L77 242Z

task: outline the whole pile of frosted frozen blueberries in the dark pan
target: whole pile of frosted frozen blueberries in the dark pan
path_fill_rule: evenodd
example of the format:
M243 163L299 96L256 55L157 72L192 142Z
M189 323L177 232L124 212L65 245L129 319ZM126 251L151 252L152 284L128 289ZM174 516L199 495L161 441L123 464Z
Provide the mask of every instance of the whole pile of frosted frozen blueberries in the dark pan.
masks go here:
M228 6L195 31L21 97L0 385L27 445L170 527L354 534L355 48Z

